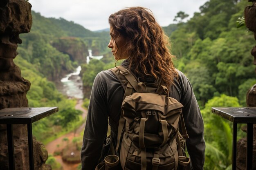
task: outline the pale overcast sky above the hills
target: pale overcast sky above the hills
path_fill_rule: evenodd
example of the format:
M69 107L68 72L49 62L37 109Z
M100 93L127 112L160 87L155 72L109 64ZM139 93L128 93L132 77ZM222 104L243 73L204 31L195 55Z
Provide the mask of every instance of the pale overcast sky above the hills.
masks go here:
M173 23L177 12L193 16L208 0L29 0L32 10L49 18L65 18L91 31L109 27L110 14L125 7L141 6L150 9L161 26Z

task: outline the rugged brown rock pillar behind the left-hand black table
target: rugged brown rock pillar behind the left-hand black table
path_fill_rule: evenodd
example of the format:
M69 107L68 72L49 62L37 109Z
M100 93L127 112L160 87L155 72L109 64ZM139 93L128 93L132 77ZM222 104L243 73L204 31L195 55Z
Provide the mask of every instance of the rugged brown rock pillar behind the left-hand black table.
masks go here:
M14 64L13 59L18 54L17 44L22 42L19 34L31 29L31 4L26 0L1 0L0 16L0 109L28 107L26 94L30 82L21 77L20 68ZM27 126L13 126L13 137L16 170L27 170ZM45 165L47 150L36 140L34 153L36 170L51 169ZM0 168L9 169L6 125L0 125Z

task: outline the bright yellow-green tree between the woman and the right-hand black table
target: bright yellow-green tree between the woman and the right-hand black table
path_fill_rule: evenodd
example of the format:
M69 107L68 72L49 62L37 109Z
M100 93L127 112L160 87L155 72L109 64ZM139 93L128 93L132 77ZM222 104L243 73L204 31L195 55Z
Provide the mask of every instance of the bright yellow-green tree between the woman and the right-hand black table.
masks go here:
M206 141L205 170L225 170L232 163L231 122L211 113L211 107L239 107L238 99L220 95L210 99L201 110Z

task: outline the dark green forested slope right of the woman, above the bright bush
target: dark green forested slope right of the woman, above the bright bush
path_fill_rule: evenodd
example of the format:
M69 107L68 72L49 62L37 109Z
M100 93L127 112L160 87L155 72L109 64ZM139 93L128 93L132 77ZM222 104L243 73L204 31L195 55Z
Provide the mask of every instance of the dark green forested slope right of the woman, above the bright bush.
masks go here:
M246 0L210 0L171 33L175 66L189 77L202 108L220 94L238 97L245 106L246 92L255 83L250 54L255 40L245 26L236 28L236 20L247 5Z

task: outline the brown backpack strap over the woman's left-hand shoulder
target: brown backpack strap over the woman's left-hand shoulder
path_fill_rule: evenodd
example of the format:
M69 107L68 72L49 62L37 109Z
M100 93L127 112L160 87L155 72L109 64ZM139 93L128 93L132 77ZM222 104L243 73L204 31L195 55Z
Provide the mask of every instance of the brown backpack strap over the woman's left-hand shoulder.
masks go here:
M110 71L112 71L112 73L116 75L117 79L125 89L124 98L128 95L132 95L133 89L137 92L137 89L138 89L137 79L135 78L134 75L132 75L132 73L130 73L130 71L127 68L125 68L124 66L117 66L117 67L111 68ZM125 88L124 84L127 81L128 83ZM123 117L123 110L122 110L120 119L119 119L119 124L118 124L116 152L118 152L118 149L119 149L121 135L124 129L124 124L125 124L125 119Z

